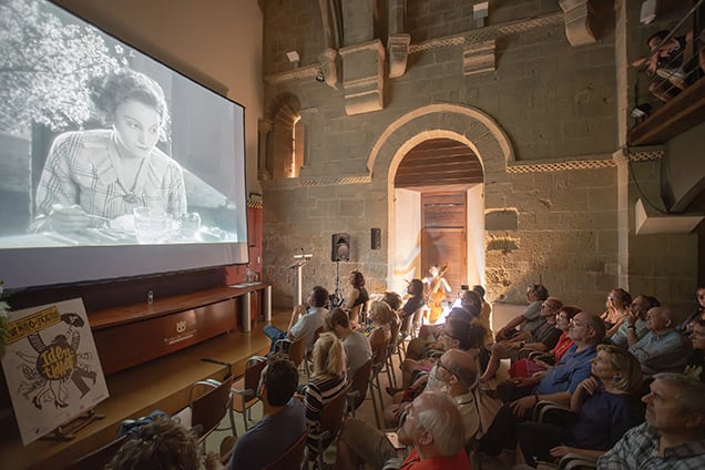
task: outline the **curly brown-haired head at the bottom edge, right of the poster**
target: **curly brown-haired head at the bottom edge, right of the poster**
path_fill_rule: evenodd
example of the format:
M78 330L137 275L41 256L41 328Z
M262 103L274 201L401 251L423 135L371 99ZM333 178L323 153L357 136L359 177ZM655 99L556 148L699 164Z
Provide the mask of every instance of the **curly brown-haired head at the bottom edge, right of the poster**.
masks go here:
M198 470L196 437L168 417L141 426L127 439L106 470Z

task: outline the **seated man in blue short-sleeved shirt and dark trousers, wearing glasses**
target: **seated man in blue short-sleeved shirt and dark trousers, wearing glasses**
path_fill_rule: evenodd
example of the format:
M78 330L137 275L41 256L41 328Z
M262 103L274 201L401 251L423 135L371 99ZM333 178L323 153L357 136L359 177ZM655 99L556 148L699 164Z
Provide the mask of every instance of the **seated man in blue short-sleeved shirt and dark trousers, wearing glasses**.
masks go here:
M513 447L514 425L524 421L539 401L570 405L571 394L590 377L590 360L597 355L596 346L604 338L604 323L597 316L581 311L571 320L569 335L575 344L563 355L561 364L538 377L514 379L510 382L511 389L501 394L500 398L504 401L521 398L500 408L494 422L480 440L482 452L495 456L505 445ZM531 388L537 380L538 385Z

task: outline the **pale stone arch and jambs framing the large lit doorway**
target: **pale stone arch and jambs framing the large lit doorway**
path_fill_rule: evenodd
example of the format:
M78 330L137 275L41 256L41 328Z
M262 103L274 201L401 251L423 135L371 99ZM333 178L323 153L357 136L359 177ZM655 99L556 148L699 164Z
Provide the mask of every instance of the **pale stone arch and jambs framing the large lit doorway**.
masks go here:
M514 161L511 143L504 131L486 113L470 106L457 104L432 104L413 110L391 123L377 140L367 161L370 176L375 173L387 177L387 223L390 233L397 226L395 175L406 154L419 143L429 139L452 139L468 145L482 165L484 180L488 175L504 173ZM476 246L479 264L477 282L484 276L484 195L483 185L474 191L479 207L474 207L473 225L479 233L468 234ZM470 246L470 244L469 244ZM398 278L408 268L405 262L397 259L397 245L390 237L387 244L388 285L397 287ZM469 248L472 249L472 248Z

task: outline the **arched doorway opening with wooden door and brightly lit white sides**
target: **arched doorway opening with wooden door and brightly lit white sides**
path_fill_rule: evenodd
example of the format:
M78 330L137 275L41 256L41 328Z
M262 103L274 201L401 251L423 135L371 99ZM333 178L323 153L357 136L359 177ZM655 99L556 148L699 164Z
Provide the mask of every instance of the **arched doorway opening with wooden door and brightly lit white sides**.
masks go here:
M447 136L428 139L403 155L394 175L396 259L405 279L446 267L452 292L480 282L483 171L467 144ZM409 237L405 225L416 226ZM476 229L471 229L474 227ZM411 231L413 232L413 231Z

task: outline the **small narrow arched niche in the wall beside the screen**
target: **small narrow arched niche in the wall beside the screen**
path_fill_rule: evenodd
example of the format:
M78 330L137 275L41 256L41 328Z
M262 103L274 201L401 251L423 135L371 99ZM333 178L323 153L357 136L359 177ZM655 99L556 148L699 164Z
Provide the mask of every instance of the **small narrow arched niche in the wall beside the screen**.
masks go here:
M292 93L277 95L265 111L260 123L263 155L259 175L263 180L296 177L304 164L304 129L302 105Z

